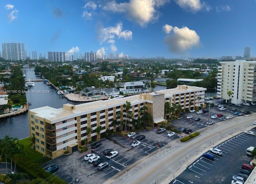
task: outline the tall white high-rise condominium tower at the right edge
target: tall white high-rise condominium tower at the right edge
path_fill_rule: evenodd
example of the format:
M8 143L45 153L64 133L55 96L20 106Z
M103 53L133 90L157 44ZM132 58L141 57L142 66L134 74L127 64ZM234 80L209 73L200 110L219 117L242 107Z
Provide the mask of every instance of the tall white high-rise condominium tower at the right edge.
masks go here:
M233 104L256 102L256 61L220 62L217 96ZM231 91L229 97L227 92Z

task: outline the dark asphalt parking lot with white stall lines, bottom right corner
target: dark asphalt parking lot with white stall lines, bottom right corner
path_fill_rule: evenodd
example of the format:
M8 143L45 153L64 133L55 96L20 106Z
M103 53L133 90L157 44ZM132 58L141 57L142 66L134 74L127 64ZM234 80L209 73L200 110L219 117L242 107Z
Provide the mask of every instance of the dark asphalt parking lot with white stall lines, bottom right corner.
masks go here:
M232 176L240 173L242 164L250 164L252 157L246 155L246 149L255 146L255 140L255 137L241 133L222 142L214 147L222 150L222 156L213 154L214 161L199 157L170 184L230 183Z

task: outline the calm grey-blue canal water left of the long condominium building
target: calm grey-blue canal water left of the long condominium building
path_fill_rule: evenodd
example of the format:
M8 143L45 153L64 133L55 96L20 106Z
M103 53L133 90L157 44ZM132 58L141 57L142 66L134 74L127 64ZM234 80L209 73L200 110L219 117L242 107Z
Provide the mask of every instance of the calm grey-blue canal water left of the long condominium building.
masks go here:
M26 80L40 79L40 76L36 76L34 69L22 69L26 74ZM80 104L81 102L72 102L66 98L60 98L59 95L47 86L44 82L35 82L35 86L28 90L45 90L46 93L26 93L27 102L31 102L32 105L29 109L50 106L53 108L62 108L63 104ZM22 139L29 137L29 124L28 124L28 112L16 115L14 117L1 118L0 119L0 139L5 135L10 137L17 137Z

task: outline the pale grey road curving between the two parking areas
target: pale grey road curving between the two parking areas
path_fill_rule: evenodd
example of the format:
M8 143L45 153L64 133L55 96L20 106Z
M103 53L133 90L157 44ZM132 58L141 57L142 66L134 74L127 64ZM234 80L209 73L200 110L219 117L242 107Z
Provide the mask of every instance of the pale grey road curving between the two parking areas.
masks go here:
M112 183L168 184L210 147L252 128L256 114L235 117L200 130L200 135L186 143L166 145L163 150L120 176ZM172 143L172 142L171 142ZM170 143L169 143L170 144ZM106 182L106 183L109 183Z

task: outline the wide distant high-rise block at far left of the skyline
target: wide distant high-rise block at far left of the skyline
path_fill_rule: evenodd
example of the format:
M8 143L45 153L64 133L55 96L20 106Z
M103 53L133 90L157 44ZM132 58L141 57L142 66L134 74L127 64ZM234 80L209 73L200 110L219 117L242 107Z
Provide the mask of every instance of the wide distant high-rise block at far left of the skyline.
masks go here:
M25 60L24 43L2 43L2 53L5 60Z

